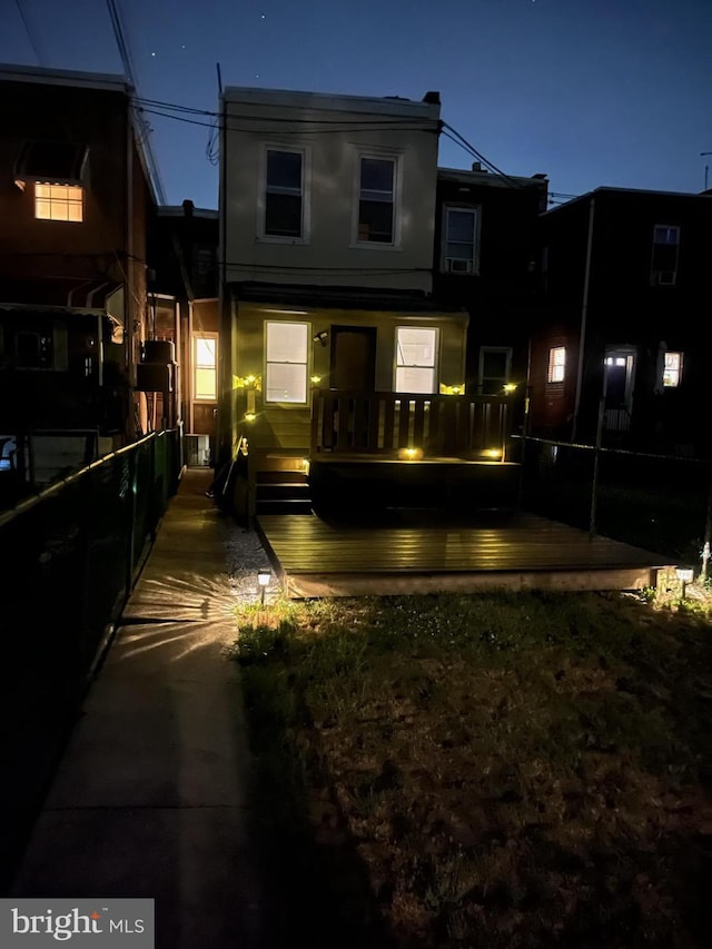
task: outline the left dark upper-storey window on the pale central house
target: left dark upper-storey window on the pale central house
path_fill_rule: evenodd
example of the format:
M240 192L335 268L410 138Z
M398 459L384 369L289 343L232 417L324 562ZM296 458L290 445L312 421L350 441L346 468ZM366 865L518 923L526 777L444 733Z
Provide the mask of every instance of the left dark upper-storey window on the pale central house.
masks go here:
M268 148L265 158L263 233L265 237L303 238L304 151Z

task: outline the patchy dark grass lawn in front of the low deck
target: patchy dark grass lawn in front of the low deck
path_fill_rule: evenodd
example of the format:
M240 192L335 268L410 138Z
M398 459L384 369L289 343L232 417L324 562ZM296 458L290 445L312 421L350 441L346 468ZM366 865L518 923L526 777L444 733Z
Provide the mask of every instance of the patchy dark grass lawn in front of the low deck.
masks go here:
M374 597L238 626L285 945L710 945L702 604Z

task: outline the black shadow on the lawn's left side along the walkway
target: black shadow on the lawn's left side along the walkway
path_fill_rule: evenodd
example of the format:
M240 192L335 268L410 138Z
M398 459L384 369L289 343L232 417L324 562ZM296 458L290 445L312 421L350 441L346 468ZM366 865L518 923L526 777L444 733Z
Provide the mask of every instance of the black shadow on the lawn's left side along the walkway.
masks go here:
M394 949L365 864L333 803L329 778L297 740L295 721L308 726L308 711L297 700L291 721L275 714L266 703L269 675L260 674L269 660L237 659L255 760L253 810L268 881L266 949L291 949L296 942L309 949Z

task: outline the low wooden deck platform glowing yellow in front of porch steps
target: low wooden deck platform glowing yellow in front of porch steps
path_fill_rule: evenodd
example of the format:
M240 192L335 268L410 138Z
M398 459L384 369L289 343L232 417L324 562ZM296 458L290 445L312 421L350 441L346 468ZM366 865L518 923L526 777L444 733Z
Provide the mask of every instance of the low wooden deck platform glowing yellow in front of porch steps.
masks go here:
M654 586L665 558L532 514L456 523L438 512L372 524L265 515L257 530L291 599Z

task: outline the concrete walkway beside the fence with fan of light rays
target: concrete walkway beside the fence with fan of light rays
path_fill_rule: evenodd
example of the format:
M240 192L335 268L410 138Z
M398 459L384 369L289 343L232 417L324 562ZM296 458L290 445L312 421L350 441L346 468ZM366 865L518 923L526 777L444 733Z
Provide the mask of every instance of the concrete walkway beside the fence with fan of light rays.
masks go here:
M226 567L189 469L34 827L13 896L151 897L159 949L267 947Z

